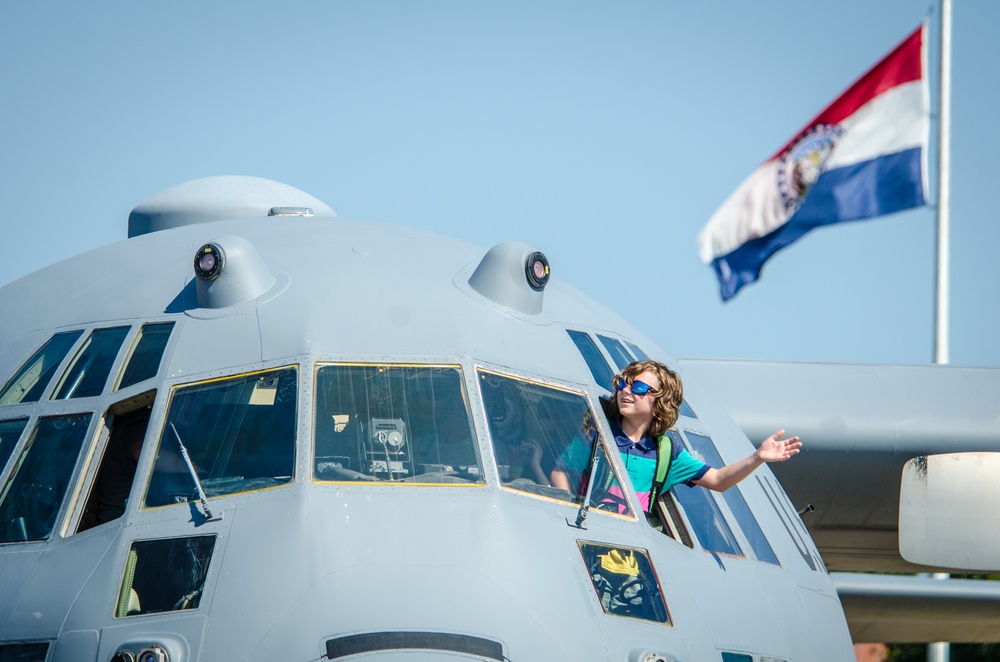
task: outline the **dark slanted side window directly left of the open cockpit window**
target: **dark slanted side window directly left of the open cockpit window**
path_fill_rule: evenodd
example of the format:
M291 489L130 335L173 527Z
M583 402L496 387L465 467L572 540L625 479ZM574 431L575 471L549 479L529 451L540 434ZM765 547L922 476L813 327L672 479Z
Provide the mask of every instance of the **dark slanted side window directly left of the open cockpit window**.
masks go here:
M0 492L0 542L52 535L91 417L39 419Z

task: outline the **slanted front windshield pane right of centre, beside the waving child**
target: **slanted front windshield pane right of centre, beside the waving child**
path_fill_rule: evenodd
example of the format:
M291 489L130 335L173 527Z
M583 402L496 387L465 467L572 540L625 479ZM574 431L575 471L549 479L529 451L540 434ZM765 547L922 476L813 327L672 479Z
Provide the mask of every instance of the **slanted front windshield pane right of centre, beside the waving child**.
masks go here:
M582 503L597 453L591 507L631 512L586 396L485 370L479 387L504 487Z

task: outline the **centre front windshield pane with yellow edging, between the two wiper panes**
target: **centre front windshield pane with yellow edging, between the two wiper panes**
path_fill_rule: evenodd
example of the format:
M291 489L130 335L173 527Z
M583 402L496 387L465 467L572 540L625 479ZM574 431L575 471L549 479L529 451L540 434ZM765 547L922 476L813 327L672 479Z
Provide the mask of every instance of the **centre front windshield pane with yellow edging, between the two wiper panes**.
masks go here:
M454 366L319 366L315 434L318 481L483 482Z

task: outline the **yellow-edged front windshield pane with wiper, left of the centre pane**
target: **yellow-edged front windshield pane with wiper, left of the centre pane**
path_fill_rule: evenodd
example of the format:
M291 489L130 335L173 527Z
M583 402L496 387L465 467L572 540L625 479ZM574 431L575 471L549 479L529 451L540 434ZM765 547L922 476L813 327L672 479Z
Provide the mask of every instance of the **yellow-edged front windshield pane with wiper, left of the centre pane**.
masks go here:
M287 367L175 387L145 505L197 500L192 469L209 498L291 482L297 374Z

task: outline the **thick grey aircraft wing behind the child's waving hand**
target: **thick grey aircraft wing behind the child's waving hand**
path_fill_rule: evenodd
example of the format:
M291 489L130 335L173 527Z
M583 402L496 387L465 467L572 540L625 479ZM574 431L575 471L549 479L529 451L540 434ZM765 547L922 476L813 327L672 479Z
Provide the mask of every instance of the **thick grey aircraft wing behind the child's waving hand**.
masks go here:
M772 464L830 570L946 572L899 553L911 458L1000 451L1000 369L683 359L753 443L775 430L802 452ZM994 504L996 505L996 504ZM974 512L994 510L969 503ZM984 522L985 524L985 522Z

